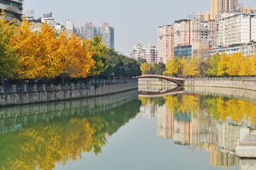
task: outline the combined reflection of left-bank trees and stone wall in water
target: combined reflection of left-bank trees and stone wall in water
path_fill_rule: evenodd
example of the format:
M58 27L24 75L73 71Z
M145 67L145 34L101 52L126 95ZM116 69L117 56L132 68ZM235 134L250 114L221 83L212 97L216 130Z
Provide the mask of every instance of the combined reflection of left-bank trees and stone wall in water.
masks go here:
M101 102L106 98L107 103ZM54 169L55 163L81 159L82 152L100 154L107 136L134 118L140 106L137 91L129 91L28 108L2 108L1 114L7 118L1 118L0 167ZM28 110L31 112L26 113Z

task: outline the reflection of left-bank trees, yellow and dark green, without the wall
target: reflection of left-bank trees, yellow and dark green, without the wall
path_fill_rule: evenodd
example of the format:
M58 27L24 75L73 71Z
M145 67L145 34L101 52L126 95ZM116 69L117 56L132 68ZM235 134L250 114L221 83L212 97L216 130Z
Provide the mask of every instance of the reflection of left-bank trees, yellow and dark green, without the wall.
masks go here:
M23 129L0 134L0 169L54 169L56 162L76 160L82 152L100 154L106 133L112 135L135 118L141 105L132 99L104 109L95 104L94 109L52 111L47 114L48 121L39 114L36 121L28 117Z

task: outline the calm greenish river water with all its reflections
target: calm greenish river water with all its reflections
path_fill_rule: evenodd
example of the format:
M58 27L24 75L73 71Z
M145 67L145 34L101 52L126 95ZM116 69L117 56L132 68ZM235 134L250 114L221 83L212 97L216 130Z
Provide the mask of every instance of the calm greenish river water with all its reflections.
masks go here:
M252 101L150 88L0 108L0 169L239 169Z

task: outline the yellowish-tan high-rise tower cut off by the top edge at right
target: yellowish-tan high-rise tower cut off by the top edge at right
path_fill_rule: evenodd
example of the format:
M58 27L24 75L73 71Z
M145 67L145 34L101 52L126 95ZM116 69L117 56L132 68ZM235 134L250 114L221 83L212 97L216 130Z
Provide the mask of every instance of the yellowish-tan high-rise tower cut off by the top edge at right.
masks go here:
M211 0L210 5L210 20L214 20L215 16L223 11L235 11L235 6L238 5L238 0Z

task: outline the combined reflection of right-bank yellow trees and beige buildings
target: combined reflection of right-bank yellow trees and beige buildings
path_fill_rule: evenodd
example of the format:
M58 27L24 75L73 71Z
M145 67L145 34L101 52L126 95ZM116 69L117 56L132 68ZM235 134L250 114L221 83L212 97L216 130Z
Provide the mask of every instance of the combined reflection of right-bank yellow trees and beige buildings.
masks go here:
M235 147L255 128L256 106L240 99L175 94L158 98L139 95L138 118L157 118L157 136L184 145L187 153L210 152L210 164L238 166ZM192 156L192 155L191 155Z

